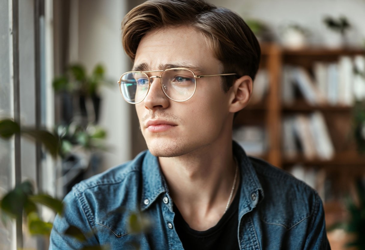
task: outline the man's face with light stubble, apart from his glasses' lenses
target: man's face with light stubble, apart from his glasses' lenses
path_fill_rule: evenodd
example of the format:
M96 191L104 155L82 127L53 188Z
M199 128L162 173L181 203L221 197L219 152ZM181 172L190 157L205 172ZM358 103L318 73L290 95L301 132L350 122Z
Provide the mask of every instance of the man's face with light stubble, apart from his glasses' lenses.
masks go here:
M191 69L195 75L223 73L222 64L212 56L203 34L189 27L155 30L139 43L134 69L163 70L171 65ZM161 72L148 74L160 76ZM172 157L197 152L231 136L230 91L222 91L221 76L196 79L195 94L185 102L170 100L161 89L160 79L151 81L146 98L135 106L153 155Z

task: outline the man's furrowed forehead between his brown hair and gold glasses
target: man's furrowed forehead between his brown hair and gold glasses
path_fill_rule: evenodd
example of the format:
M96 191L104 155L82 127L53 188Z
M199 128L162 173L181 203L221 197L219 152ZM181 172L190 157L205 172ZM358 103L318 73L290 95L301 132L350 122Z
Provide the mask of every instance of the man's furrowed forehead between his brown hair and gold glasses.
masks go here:
M161 70L165 69L164 65L196 67L201 71L208 71L212 67L218 67L218 70L222 68L220 61L214 58L204 34L185 26L147 33L141 39L135 56L134 68L140 65L143 65L143 70Z

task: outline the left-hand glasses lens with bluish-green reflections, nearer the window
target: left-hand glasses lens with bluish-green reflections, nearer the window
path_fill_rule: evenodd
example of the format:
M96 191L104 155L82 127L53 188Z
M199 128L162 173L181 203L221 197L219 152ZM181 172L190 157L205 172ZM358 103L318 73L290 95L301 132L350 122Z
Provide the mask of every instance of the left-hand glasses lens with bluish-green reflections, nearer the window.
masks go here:
M128 72L120 79L120 91L124 99L130 103L139 103L147 95L148 76L141 72Z

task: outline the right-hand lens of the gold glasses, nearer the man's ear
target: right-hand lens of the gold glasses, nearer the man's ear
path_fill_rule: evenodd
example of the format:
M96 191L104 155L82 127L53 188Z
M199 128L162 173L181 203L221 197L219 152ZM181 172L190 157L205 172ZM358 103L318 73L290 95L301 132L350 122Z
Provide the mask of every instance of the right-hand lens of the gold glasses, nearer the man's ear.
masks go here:
M167 69L161 78L162 90L174 101L187 101L195 92L195 77L188 69Z

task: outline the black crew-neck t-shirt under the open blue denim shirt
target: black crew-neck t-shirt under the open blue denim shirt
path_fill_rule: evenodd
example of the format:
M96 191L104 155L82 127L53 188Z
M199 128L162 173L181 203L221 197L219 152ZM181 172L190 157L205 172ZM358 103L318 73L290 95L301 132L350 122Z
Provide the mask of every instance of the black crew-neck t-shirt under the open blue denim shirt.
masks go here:
M241 186L241 185L240 185ZM239 191L233 199L227 212L224 213L218 223L206 231L196 231L189 227L181 216L177 207L174 206L175 218L174 225L184 249L187 250L211 250L229 249L238 250L238 205Z

